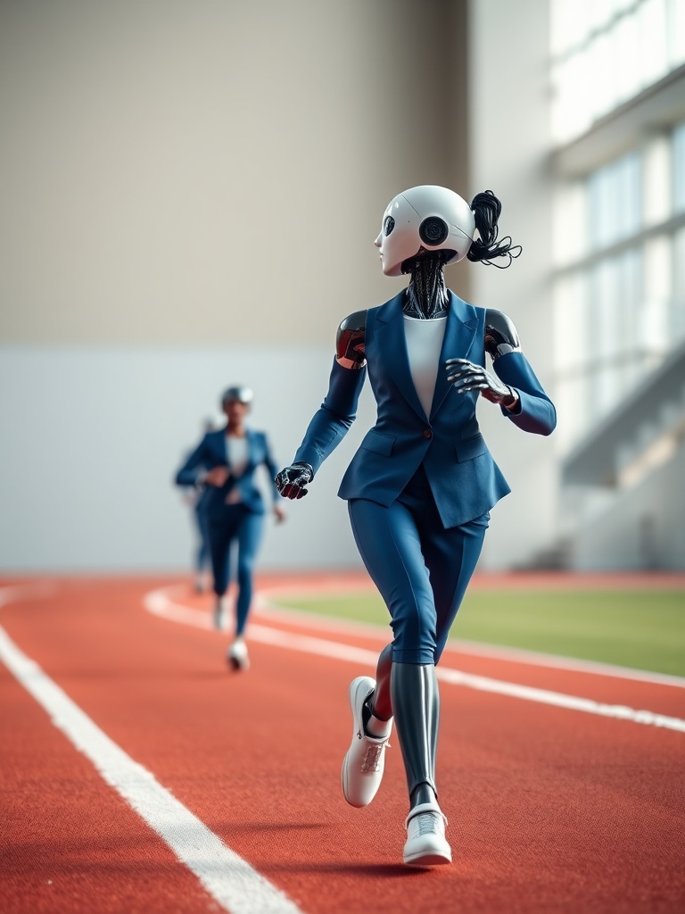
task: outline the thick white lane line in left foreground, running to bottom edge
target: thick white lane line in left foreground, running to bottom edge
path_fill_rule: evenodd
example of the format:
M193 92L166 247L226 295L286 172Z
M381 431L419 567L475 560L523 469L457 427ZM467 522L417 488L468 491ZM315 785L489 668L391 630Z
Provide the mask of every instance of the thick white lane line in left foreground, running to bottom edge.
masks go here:
M0 590L0 606L19 588ZM26 588L25 596L28 592ZM204 823L133 761L27 657L0 627L0 660L43 707L52 723L95 766L111 787L160 835L175 856L231 914L302 914L290 898L225 845Z

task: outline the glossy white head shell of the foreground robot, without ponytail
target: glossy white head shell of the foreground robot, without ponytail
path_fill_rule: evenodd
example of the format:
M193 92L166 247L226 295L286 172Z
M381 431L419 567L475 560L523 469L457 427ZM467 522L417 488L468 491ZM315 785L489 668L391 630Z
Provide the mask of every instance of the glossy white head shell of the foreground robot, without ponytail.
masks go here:
M374 244L385 276L401 276L402 264L420 251L448 250L447 263L466 257L476 228L469 204L437 185L411 187L391 200Z

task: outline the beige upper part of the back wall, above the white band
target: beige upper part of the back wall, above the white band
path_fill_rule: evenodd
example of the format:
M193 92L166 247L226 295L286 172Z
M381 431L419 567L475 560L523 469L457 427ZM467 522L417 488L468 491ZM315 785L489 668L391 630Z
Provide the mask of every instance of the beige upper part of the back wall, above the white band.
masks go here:
M0 5L0 343L332 345L387 201L467 184L465 8Z

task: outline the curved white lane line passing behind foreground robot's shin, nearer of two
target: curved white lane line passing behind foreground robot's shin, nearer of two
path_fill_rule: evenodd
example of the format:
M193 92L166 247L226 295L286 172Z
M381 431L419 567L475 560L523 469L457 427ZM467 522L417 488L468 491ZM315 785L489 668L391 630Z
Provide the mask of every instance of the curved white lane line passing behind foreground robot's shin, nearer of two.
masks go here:
M168 598L164 590L153 590L145 594L143 597L145 609L174 622L183 622L186 625L195 625L198 628L209 628L205 612L174 603ZM378 660L377 653L368 651L363 647L325 641L322 638L313 638L309 635L282 632L279 629L268 628L256 622L252 622L249 626L249 637L253 641L284 647L291 651L317 654L318 656L331 657L335 660L350 661L351 663L365 664L372 667L375 667ZM542 705L553 705L554 707L563 707L566 710L594 714L598 717L614 717L634 724L645 724L650 727L677 730L680 733L685 733L685 720L680 719L680 717L668 717L655 711L638 710L624 705L607 705L592 698L564 695L561 692L534 688L530 685L502 682L499 679L490 679L487 676L462 673L460 670L450 669L445 666L438 666L436 673L437 678L444 682L448 682L451 685L463 685L467 688L477 689L480 692L491 692L496 695L519 698L522 701L533 701Z

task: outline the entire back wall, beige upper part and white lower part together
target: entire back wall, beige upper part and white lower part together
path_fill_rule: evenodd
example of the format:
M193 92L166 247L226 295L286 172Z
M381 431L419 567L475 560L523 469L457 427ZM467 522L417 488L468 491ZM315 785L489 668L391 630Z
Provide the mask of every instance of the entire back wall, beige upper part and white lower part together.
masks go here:
M466 0L0 3L3 569L179 569L172 478L233 383L290 462L408 186L468 195ZM466 293L469 271L459 291ZM263 568L359 565L344 467Z

